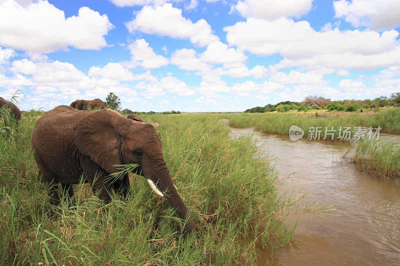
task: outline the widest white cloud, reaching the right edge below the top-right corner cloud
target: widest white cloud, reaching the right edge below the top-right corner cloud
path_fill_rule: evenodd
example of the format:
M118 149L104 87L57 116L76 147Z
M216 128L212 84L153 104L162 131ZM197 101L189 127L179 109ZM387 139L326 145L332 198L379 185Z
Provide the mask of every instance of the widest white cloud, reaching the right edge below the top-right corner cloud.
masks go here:
M229 45L258 55L282 55L279 67L373 69L400 63L399 32L394 29L315 31L307 21L248 18L224 30Z

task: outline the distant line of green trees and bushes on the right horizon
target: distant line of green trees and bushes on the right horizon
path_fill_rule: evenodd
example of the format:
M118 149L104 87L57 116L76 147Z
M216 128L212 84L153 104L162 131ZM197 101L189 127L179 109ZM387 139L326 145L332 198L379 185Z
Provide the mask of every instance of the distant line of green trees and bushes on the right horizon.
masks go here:
M309 111L328 109L329 111L346 111L353 112L359 109L367 110L370 108L396 106L400 107L400 92L392 93L390 97L381 96L373 100L339 100L331 101L328 98L307 96L301 102L284 101L277 104L267 104L264 107L257 106L245 110L245 113L265 113L265 112L287 112L290 110Z

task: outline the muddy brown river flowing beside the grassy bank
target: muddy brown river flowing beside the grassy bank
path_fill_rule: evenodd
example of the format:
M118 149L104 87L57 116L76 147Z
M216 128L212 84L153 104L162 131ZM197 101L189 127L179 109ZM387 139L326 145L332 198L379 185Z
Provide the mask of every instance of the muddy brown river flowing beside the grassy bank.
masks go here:
M260 151L276 158L279 179L285 180L279 190L293 192L293 197L307 192L300 207L312 202L334 205L324 219L304 213L288 218L298 218L293 236L297 246L282 248L282 265L400 264L400 185L372 179L342 158L349 143L290 141L252 129L233 128L230 134L253 134ZM400 140L395 135L385 138ZM267 257L259 254L258 263L263 265Z

